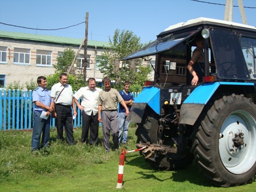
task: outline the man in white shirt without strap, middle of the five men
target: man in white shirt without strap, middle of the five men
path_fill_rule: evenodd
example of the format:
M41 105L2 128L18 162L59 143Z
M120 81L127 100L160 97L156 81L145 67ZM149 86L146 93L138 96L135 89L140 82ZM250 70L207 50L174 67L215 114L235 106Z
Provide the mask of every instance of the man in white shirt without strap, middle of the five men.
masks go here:
M98 97L102 89L96 87L94 78L87 80L88 86L81 87L74 94L74 101L78 108L82 111L82 135L81 142L89 143L89 128L90 128L90 145L98 143ZM81 105L78 99L82 97Z

